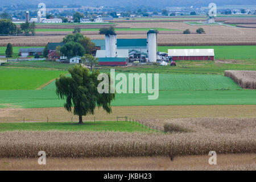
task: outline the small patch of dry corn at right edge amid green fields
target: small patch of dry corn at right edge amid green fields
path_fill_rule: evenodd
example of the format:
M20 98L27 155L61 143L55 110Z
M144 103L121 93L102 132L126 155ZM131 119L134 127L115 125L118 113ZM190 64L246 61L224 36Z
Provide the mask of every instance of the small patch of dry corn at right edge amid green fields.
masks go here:
M232 78L244 89L256 89L256 71L226 70L224 75Z

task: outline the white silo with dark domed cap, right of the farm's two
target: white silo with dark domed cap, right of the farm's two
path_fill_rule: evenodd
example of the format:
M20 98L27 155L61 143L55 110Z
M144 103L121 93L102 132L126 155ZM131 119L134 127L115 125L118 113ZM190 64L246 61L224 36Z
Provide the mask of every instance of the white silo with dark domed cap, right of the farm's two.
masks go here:
M147 32L147 56L149 62L156 62L157 52L157 38L156 31L150 30Z

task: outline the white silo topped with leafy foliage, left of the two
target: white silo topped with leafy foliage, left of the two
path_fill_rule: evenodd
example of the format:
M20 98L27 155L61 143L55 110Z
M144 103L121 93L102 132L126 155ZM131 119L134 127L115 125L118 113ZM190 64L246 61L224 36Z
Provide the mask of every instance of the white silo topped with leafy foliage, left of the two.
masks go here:
M106 34L105 35L105 47L106 57L117 56L117 35Z

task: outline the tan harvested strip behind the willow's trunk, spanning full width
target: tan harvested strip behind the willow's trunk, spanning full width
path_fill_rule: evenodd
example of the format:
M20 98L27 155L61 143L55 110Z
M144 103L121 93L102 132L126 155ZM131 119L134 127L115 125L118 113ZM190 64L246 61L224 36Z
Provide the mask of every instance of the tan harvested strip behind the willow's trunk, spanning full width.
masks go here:
M166 121L174 118L256 118L256 105L193 105L193 106L113 106L112 114L96 109L95 115L83 117L84 121L115 121L117 116L127 116L144 121ZM129 111L129 112L128 112ZM28 121L78 121L64 107L34 109L0 109L0 122ZM155 125L155 124L154 124ZM162 125L163 126L163 125Z

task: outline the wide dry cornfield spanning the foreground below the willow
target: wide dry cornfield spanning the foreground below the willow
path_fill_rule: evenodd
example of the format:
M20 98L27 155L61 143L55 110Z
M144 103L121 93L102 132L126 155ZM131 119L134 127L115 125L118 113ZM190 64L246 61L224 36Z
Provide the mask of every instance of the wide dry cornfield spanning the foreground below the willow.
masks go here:
M0 133L1 158L127 157L241 154L256 152L256 119L176 119L190 132L120 133L91 131L6 131Z

